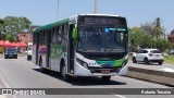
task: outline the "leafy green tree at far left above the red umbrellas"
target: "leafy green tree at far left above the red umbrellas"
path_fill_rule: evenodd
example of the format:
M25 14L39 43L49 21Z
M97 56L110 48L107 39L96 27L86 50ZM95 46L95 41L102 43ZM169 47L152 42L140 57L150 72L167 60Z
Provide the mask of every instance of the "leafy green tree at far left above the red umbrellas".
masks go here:
M32 22L26 17L5 16L3 19L5 34L14 36L17 40L17 33L28 32Z

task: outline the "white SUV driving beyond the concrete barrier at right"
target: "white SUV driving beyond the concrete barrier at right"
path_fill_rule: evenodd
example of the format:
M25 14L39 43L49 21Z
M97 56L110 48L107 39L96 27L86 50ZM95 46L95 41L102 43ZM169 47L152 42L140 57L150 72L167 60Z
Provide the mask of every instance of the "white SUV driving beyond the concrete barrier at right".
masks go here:
M145 62L145 64L149 64L149 62L158 62L161 65L163 61L163 54L158 49L141 49L133 56L133 63Z

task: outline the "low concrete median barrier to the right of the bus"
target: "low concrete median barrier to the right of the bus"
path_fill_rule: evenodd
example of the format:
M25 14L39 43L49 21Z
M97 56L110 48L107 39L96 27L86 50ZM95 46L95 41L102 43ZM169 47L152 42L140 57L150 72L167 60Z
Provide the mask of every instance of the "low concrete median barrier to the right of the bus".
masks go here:
M174 86L174 73L128 66L128 77Z

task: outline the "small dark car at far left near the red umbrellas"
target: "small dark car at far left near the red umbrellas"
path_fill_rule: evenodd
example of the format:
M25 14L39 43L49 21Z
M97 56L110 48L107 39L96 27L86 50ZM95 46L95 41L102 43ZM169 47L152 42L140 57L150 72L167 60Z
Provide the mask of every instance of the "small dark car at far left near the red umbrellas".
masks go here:
M7 48L4 51L4 59L15 58L17 59L17 49L16 48Z

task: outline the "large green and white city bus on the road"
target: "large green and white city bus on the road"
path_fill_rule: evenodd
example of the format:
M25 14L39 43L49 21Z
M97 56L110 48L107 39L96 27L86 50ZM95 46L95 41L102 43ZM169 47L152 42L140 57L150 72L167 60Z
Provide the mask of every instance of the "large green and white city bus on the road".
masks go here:
M79 14L36 28L33 62L40 72L70 76L101 76L109 81L127 73L126 19L111 14Z

